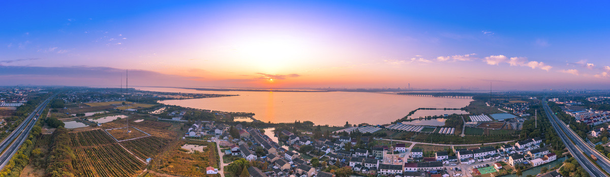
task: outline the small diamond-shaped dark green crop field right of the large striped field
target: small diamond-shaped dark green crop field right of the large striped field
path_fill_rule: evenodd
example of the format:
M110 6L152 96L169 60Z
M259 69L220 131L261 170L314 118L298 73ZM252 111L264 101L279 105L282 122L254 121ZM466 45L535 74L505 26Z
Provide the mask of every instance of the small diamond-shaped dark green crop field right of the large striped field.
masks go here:
M141 139L128 140L121 142L127 150L140 157L140 159L148 159L159 154L163 148L167 148L171 140L160 139L158 137L143 137Z

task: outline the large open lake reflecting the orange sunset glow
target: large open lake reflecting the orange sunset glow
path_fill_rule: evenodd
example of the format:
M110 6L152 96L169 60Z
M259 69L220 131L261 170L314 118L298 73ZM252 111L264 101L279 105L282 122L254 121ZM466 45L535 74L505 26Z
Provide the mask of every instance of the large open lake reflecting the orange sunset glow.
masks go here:
M176 99L159 103L225 112L253 112L254 118L273 123L312 121L317 125L387 124L419 107L461 108L472 99L387 95L367 92L243 92L184 88L135 87L156 92L212 93L239 96ZM434 113L435 115L437 113Z

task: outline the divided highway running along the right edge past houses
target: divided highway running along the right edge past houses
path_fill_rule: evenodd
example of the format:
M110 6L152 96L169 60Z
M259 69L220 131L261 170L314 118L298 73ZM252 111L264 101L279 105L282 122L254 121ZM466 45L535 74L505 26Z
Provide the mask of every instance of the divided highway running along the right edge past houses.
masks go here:
M548 107L546 102L543 101L542 104L547 117L551 121L551 125L559 135L561 141L564 142L565 147L568 149L568 151L570 151L570 154L572 154L576 161L578 161L578 164L580 164L581 167L583 167L584 170L586 170L591 176L608 176L600 168L598 168L594 162L591 162L583 153L586 153L587 155L594 154L594 156L596 156L598 159L597 164L600 165L603 170L606 170L606 172L610 172L610 162L608 159L599 154L597 150L587 145L587 143L578 137L578 135L576 135L572 129L568 128L563 121L559 120L559 118L553 114L551 108ZM570 139L572 139L573 142Z

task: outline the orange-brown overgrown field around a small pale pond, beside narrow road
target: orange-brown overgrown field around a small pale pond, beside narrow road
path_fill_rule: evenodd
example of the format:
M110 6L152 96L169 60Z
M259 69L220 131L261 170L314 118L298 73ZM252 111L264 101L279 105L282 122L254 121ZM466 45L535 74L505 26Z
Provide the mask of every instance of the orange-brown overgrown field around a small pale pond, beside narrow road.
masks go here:
M186 143L206 147L203 149L203 152L195 151L194 153L188 153L188 150L181 148ZM170 150L160 154L157 159L152 160L150 163L151 170L170 175L206 176L206 172L201 169L206 167L218 168L218 154L216 145L213 142L183 140L172 143L170 148Z

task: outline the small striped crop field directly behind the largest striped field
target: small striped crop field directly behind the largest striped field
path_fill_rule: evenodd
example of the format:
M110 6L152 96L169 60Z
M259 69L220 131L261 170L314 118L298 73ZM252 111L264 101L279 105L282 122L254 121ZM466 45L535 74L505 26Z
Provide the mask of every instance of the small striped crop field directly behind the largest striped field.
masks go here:
M101 129L91 131L70 132L72 146L96 146L115 143L116 141Z

